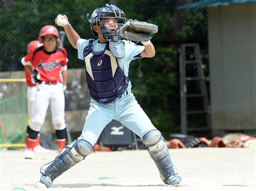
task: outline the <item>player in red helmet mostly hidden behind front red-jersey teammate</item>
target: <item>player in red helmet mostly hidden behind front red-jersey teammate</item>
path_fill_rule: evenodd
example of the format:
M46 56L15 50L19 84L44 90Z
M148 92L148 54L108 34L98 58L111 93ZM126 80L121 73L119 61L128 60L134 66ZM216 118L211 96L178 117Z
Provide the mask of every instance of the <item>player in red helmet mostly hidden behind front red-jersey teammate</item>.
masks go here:
M36 48L42 46L43 44L39 43L39 40L33 40L31 41L27 48L26 48L26 53L30 54L31 52L35 51ZM25 57L22 58L21 62L24 65L24 59ZM32 73L33 73L33 68L29 68L31 69ZM34 79L34 75L32 74L32 77L30 76L30 73L28 72L27 69L24 68L24 72L25 72L25 77L26 77L26 98L27 98L27 102L28 102L28 124L30 123L31 118L33 117L33 115L35 115L35 97L36 97L36 82ZM32 81L31 81L32 79ZM27 133L26 133L26 142L28 142L28 138L29 138L29 126L27 127ZM37 139L37 146L34 147L34 151L35 152L50 152L50 150L45 149L44 147L42 147L40 145L40 133L38 133Z

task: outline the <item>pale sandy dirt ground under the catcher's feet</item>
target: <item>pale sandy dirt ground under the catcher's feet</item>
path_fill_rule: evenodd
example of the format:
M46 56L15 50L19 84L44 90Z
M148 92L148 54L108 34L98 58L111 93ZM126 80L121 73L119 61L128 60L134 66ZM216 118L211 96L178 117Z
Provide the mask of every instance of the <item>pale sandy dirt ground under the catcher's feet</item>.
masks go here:
M183 148L169 150L183 179L164 185L146 150L94 152L53 182L36 189L39 168L56 151L24 159L24 151L0 151L0 190L256 190L255 149Z

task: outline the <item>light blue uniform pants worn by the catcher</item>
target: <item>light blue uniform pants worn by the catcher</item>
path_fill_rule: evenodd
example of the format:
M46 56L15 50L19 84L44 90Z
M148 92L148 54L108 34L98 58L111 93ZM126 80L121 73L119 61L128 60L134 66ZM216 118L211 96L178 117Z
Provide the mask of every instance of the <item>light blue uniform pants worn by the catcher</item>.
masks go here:
M78 139L84 139L91 145L95 145L100 133L112 119L122 123L141 139L147 132L156 129L135 100L131 89L128 89L122 97L109 104L102 104L91 99L82 135Z

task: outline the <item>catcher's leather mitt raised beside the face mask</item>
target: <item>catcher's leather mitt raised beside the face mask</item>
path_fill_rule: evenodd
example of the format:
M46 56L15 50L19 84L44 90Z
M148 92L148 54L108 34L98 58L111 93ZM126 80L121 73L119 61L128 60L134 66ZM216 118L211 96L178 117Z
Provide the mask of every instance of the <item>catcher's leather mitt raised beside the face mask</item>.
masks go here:
M130 19L122 26L120 34L127 40L143 42L152 39L157 31L157 25Z

